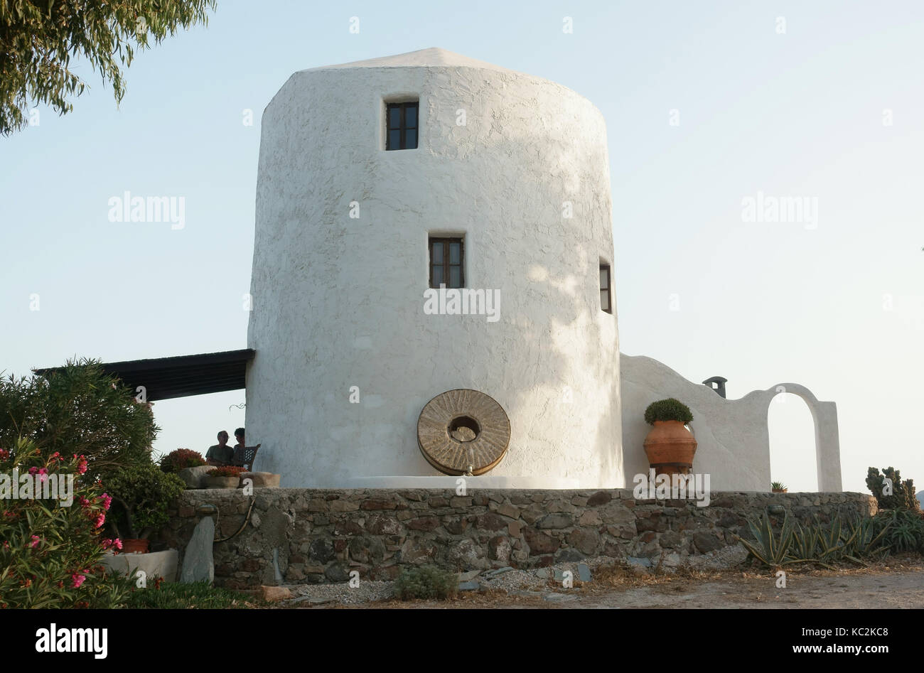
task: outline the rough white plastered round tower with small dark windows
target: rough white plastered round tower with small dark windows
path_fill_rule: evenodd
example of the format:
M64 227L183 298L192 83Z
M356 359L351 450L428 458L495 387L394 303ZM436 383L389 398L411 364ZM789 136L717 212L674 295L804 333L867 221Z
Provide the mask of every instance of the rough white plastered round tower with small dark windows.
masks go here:
M413 98L418 149L385 152L384 101ZM424 314L428 232L465 234L466 285L500 289L497 322ZM602 260L606 129L577 93L438 49L297 72L262 117L247 377L261 468L283 486L435 476L419 412L468 387L510 419L492 476L623 485Z

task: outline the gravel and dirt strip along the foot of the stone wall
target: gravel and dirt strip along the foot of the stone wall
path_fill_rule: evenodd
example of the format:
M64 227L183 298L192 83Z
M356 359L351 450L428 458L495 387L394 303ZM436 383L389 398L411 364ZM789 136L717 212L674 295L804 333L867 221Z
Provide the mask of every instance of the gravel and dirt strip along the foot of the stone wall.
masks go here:
M635 566L606 567L588 562L592 579L581 582L577 563L547 569L463 573L456 599L409 601L394 598L394 582L360 581L348 584L298 584L288 589L293 598L280 607L919 607L924 605L924 564L895 561L861 569L789 570L786 587L776 586L764 570L680 570L652 573ZM572 585L564 586L572 572ZM586 574L585 574L586 577Z

